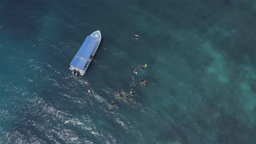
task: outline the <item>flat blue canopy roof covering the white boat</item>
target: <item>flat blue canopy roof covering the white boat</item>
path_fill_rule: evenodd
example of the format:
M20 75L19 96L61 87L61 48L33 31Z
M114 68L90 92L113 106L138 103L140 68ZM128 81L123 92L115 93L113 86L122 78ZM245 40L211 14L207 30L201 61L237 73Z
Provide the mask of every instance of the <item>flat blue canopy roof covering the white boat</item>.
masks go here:
M91 56L92 50L94 49L97 42L98 41L94 36L87 36L70 65L81 70L84 69L86 62Z

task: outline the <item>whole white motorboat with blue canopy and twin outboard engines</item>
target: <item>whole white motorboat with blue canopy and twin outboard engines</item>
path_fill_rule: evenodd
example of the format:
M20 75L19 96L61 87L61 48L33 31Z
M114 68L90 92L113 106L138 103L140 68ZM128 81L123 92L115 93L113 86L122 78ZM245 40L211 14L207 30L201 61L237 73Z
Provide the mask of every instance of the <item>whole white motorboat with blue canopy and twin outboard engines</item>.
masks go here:
M101 39L102 35L99 30L86 37L84 43L70 63L69 69L72 70L73 75L79 76L85 74L86 69L88 68L95 52L98 49Z

